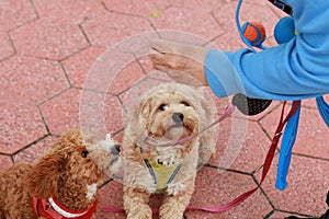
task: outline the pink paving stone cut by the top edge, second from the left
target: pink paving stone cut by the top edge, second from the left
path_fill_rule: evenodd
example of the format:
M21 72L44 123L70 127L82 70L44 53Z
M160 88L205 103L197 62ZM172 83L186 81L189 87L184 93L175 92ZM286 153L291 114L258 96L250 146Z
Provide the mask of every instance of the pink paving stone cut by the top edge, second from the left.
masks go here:
M35 0L34 5L41 19L47 18L53 21L66 20L73 24L93 19L105 13L105 8L101 1L84 0Z

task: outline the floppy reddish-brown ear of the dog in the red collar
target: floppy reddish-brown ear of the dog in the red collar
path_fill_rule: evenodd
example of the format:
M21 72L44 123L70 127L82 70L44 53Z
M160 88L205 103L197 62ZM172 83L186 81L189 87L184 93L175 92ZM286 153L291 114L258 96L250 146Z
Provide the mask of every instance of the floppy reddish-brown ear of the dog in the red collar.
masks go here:
M55 151L41 157L26 174L25 186L31 196L49 198L57 195L58 170L63 161L63 155Z

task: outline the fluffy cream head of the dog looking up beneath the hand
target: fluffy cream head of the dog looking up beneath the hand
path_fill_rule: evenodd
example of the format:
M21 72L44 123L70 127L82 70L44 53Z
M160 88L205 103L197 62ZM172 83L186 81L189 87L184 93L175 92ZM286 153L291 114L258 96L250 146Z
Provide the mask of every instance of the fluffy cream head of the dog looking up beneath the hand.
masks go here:
M207 105L201 88L161 84L147 92L136 104L129 116L127 134L140 147L172 146L206 126L209 122ZM191 146L193 140L183 145Z

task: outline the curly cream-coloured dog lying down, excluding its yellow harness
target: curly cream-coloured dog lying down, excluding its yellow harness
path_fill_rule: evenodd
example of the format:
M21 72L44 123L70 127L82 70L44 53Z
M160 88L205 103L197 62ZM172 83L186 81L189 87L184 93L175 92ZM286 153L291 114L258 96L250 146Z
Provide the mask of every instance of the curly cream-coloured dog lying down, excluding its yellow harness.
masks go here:
M177 146L161 147L149 142L174 141L214 122L216 108L204 94L203 88L167 83L151 89L132 111L123 139L124 208L128 219L152 217L148 200L158 191L144 159L164 166L181 164L173 181L164 188L159 216L161 219L183 217L194 192L197 164L207 162L215 152L215 128Z

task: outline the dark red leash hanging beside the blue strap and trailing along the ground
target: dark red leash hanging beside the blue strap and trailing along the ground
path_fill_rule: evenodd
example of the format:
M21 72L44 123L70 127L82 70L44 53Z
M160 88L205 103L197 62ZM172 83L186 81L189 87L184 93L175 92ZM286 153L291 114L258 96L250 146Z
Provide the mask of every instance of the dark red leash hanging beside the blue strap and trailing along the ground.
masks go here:
M272 139L271 147L268 151L268 154L266 154L266 158L265 158L265 161L264 161L262 176L261 176L261 181L260 181L259 185L257 187L254 187L253 189L248 191L248 192L243 193L242 195L238 196L236 199L234 199L232 201L230 201L228 204L225 204L225 205L222 205L222 206L218 206L218 207L208 207L208 208L188 206L186 210L204 210L204 211L208 211L208 212L222 212L222 211L225 211L225 210L229 210L229 209L238 206L239 204L241 204L243 200L246 200L249 196L251 196L262 185L262 183L265 180L265 176L266 176L266 174L268 174L268 172L271 168L271 164L272 164L272 161L273 161L273 158L274 158L274 154L275 154L275 150L277 148L280 137L283 134L282 130L283 130L285 124L288 122L288 119L297 111L298 105L300 104L300 101L295 101L294 102L290 113L284 118L285 104L286 104L286 102L283 102L280 122L277 124L274 137ZM106 211L106 212L125 212L125 210L123 208L113 207L113 206L103 206L102 210ZM152 212L158 214L159 208L152 209Z

